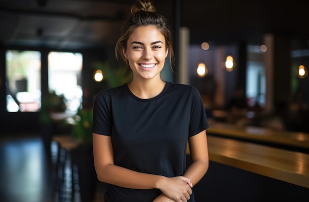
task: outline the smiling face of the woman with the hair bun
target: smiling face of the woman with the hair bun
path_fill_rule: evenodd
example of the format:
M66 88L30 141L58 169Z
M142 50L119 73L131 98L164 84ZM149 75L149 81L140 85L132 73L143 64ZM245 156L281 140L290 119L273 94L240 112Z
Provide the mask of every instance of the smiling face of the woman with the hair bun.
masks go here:
M141 26L130 35L123 54L134 78L152 79L160 76L168 51L164 36L155 26Z

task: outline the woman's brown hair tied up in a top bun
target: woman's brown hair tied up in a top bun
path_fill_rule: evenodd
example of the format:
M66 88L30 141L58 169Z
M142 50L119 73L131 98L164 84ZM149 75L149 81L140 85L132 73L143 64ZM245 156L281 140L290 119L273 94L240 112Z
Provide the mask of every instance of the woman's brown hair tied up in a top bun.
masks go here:
M166 49L169 53L171 66L174 62L174 53L171 40L171 32L167 25L167 20L163 15L156 13L153 3L149 0L138 0L131 8L131 16L122 27L121 36L116 43L116 59L119 58L128 65L122 50L127 48L127 41L132 32L140 27L154 25L165 38Z

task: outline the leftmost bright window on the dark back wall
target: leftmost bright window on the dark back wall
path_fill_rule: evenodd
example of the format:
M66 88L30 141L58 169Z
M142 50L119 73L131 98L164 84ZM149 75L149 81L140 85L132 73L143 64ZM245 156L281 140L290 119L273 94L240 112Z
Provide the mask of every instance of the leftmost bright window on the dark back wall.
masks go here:
M41 107L39 51L6 51L6 110L33 112Z

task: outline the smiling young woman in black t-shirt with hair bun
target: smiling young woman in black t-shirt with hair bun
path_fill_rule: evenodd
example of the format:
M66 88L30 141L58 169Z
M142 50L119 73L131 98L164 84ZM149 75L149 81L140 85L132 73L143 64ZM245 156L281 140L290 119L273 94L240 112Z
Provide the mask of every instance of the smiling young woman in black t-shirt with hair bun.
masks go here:
M133 79L102 90L93 108L94 164L108 184L105 202L194 202L192 188L208 169L203 103L192 86L160 78L165 58L173 58L165 18L147 0L133 5L131 14L116 57Z

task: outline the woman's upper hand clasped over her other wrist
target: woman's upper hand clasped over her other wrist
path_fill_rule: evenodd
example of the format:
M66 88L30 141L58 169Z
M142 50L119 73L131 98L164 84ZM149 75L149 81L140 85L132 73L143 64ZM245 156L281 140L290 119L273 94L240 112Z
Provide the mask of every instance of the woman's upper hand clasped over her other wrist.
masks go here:
M187 202L192 194L191 180L184 176L166 177L162 181L160 190L175 202Z

